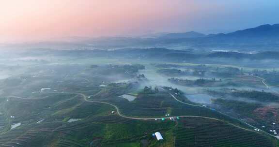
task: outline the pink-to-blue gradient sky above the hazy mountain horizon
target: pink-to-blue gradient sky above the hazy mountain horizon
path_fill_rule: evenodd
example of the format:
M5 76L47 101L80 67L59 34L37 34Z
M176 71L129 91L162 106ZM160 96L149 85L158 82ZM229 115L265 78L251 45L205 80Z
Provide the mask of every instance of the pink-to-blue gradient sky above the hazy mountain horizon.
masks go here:
M0 43L230 32L279 23L279 0L0 0Z

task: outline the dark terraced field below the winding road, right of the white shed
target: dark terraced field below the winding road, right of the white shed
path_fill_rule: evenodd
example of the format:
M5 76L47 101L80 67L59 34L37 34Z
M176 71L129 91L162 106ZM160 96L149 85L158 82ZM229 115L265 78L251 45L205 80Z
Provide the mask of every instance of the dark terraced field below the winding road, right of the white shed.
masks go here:
M175 147L275 147L267 136L224 122L183 118L175 131Z

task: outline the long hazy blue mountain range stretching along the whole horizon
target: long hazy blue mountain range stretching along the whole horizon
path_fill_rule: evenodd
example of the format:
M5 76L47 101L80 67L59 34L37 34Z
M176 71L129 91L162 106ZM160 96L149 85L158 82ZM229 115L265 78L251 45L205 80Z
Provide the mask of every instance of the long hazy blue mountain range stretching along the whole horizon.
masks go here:
M156 37L103 37L72 39L68 42L11 44L14 48L121 49L169 48L194 50L279 51L279 24L205 35L195 31L164 33Z

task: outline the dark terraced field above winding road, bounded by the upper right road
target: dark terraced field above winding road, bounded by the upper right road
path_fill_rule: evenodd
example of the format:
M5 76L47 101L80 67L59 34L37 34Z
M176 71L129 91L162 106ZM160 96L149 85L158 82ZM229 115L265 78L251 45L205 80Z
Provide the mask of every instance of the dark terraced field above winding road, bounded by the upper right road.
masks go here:
M170 116L198 116L220 119L237 124L243 128L253 129L246 123L217 112L215 109L176 101L168 92L156 94L139 94L132 102L120 98L108 99L105 102L114 104L122 115L131 118L164 118Z

